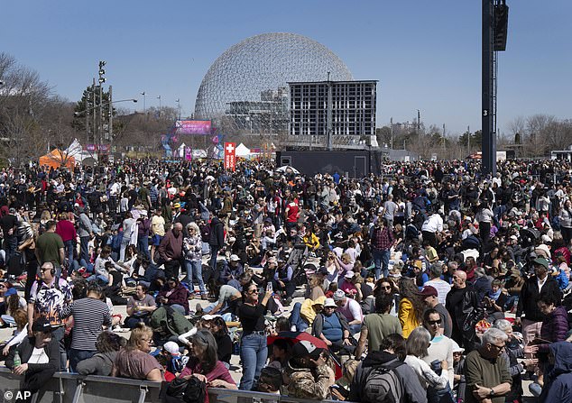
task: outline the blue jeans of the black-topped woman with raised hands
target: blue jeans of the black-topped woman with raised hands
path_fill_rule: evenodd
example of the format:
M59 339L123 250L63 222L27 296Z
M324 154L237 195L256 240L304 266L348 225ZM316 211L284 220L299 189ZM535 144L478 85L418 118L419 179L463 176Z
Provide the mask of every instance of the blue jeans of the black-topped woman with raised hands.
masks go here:
M240 359L243 362L243 377L240 379L238 389L252 390L254 383L260 377L266 358L268 347L265 334L247 334L240 339Z

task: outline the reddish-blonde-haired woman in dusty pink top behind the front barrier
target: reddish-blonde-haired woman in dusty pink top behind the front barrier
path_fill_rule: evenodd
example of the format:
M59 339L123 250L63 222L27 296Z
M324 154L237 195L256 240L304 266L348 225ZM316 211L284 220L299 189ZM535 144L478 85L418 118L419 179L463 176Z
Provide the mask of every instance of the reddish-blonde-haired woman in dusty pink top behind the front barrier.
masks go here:
M161 364L152 357L151 343L152 328L142 323L137 324L131 331L131 337L115 356L112 377L129 378L132 380L165 380Z

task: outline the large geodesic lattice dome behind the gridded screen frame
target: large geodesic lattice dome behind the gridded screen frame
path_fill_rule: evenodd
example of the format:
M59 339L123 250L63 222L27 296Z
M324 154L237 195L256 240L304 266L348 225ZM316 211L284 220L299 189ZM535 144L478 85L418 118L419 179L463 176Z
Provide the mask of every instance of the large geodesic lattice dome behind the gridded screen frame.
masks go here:
M328 78L353 80L344 62L321 43L287 32L256 35L226 50L208 69L195 117L213 120L227 134L281 133L289 121L287 83Z

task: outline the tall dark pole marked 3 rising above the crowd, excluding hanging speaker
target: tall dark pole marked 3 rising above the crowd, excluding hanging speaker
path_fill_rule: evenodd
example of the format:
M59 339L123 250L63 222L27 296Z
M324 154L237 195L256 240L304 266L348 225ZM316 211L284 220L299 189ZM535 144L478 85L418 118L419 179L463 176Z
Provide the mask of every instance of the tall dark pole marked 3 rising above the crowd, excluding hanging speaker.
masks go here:
M483 0L482 56L482 149L484 175L496 173L496 138L494 136L494 0Z

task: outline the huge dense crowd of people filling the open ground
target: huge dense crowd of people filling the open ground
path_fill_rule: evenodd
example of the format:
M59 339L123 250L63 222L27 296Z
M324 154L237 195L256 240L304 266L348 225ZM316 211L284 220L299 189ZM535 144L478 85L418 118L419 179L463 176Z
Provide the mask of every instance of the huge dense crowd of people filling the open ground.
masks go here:
M32 392L72 371L166 381L170 401L519 402L523 380L572 401L572 166L479 168L2 169L2 359Z

